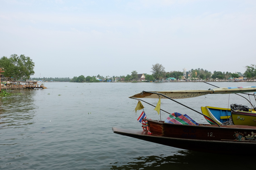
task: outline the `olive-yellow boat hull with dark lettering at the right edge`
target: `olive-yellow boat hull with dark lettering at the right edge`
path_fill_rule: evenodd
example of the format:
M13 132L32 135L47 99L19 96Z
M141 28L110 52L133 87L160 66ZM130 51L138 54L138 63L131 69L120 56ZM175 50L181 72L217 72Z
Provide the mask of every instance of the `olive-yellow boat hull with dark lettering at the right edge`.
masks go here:
M256 126L256 113L244 111L231 111L234 125Z

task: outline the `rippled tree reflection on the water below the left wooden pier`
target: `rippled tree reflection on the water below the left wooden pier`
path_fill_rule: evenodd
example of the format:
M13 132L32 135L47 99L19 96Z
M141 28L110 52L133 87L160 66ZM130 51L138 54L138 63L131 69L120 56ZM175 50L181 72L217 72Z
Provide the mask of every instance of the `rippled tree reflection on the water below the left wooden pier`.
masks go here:
M32 90L13 90L10 93L21 94L0 98L0 159L8 160L9 164L15 161L15 158L24 156L26 152L21 149L20 144L24 138L31 137L27 133L29 133L31 125L35 123L33 120L36 112L34 92ZM10 149L8 146L15 149Z

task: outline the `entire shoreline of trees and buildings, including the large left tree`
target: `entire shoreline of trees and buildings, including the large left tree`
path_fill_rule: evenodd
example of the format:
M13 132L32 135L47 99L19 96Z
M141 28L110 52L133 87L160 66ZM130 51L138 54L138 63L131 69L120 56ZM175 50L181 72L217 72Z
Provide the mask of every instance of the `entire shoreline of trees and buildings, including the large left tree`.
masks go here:
M138 73L133 70L131 74L127 75L113 75L113 76L87 76L80 75L73 78L65 77L49 77L49 78L31 78L34 75L35 63L32 62L30 57L13 54L9 58L3 56L0 58L1 77L11 78L16 81L43 81L43 82L140 82L140 81L245 81L255 80L256 78L256 64L245 66L245 72L221 72L221 71L208 71L203 68L196 68L187 70L183 68L183 71L165 71L165 67L162 64L152 64L151 73ZM2 81L2 80L1 80Z

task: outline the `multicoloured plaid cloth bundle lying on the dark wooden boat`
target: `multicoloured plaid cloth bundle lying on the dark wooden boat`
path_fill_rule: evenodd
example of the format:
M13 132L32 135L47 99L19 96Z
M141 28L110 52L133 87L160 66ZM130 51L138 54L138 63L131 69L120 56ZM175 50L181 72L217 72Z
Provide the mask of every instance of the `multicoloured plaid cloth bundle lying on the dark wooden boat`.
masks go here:
M169 117L165 120L165 123L169 124L181 124L181 125L196 125L199 124L196 123L193 119L191 119L188 115L182 115L180 113L172 113L169 115Z

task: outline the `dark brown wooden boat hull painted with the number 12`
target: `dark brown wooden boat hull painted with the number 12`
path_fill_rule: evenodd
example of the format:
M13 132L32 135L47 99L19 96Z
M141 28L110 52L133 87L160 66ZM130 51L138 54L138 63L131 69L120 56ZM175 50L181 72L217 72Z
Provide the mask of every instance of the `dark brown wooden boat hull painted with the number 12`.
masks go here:
M112 128L112 130L117 134L200 152L223 153L227 151L228 154L237 154L237 149L230 148L242 148L250 154L253 153L253 148L256 146L256 136L255 138L251 137L254 136L253 133L256 132L256 127L241 125L191 126L153 120L148 120L148 125L152 134L142 130L118 128Z

